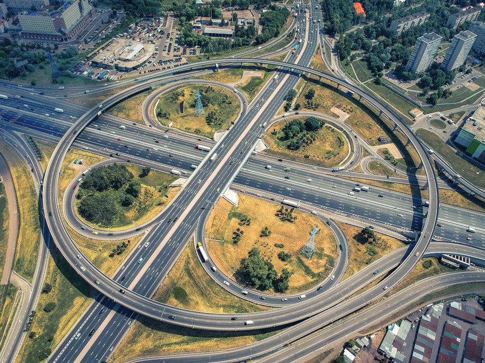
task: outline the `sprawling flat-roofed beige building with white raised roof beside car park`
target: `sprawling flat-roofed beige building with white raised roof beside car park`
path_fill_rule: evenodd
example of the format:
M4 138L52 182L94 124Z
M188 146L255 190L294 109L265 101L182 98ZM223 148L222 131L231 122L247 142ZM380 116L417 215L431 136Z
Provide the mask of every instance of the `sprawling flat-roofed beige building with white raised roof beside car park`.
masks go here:
M142 44L118 38L92 60L92 65L104 69L130 72L144 65L155 52L154 44Z

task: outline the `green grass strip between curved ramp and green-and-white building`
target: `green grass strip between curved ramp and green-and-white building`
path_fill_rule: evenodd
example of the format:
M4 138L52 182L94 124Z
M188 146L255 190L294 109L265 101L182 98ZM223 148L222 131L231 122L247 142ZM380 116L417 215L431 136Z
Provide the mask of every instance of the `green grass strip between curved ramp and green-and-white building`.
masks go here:
M419 129L416 135L426 142L431 149L440 154L453 169L460 174L463 178L476 185L479 188L485 187L485 179L482 176L483 170L478 166L469 163L467 160L463 159L461 156L457 155L456 152L446 145L443 140L436 136L433 132L428 130ZM478 174L477 174L478 173Z

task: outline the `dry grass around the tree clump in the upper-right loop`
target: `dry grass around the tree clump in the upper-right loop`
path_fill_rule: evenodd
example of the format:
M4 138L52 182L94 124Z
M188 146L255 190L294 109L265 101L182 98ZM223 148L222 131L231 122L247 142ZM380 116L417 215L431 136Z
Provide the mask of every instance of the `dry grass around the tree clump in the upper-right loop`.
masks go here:
M305 117L299 119L303 122L306 120ZM285 124L286 120L276 122L271 129L274 129L277 134L274 135L271 132L263 137L269 146L265 153L280 158L327 167L339 165L348 154L349 144L345 141L344 136L339 129L328 123L316 132L316 139L310 145L304 146L299 150L290 150L287 146L291 140L285 139L283 132L281 132ZM309 158L305 158L304 155L309 155Z

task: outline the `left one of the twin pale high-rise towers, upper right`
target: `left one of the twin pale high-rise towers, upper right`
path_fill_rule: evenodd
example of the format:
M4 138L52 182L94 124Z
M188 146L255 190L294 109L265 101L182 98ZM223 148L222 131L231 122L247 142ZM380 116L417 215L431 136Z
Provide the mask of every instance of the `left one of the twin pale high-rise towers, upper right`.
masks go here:
M406 64L406 72L421 73L428 69L435 58L442 37L436 33L425 33L416 40L413 52Z

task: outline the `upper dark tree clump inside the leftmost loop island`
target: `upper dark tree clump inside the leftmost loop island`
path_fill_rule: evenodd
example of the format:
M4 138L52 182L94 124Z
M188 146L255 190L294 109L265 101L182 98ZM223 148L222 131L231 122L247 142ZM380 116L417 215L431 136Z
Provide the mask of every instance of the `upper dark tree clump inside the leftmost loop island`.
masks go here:
M108 189L119 189L133 179L133 174L124 165L111 164L97 167L84 177L80 187L91 193Z

